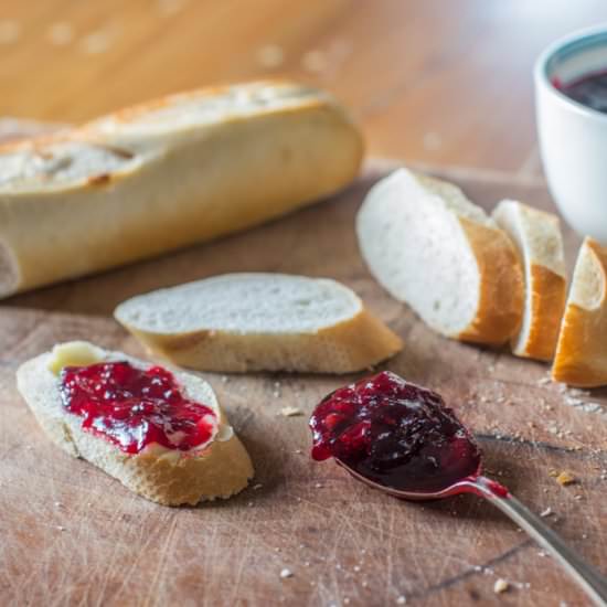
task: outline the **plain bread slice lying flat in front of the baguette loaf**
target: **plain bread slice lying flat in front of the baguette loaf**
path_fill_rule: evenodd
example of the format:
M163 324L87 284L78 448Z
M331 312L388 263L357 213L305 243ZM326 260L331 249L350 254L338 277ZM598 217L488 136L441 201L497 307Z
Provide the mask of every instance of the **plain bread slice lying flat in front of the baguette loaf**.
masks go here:
M204 371L350 373L402 342L349 288L286 274L226 274L120 303L151 352Z

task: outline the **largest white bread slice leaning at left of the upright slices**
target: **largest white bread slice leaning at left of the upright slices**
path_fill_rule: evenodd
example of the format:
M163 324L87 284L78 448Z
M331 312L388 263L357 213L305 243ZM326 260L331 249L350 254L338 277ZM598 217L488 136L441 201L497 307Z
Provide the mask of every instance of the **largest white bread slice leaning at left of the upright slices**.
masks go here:
M487 344L518 331L523 275L514 246L459 188L398 169L366 195L356 233L371 274L434 330Z

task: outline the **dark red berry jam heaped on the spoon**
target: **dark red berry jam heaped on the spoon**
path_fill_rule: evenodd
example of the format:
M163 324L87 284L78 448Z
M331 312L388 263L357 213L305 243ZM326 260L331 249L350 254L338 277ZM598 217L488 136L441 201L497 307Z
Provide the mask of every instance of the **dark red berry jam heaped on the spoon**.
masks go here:
M312 458L334 457L384 487L437 492L480 469L480 450L443 398L385 371L326 396Z

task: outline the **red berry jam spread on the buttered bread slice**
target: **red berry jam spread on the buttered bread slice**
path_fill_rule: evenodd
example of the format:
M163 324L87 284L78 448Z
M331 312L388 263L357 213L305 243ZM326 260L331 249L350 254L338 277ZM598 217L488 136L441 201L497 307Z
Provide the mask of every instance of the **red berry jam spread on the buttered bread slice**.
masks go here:
M138 369L123 361L66 366L61 396L65 408L83 418L85 430L127 454L152 443L185 451L207 443L217 425L215 413L185 398L161 366Z

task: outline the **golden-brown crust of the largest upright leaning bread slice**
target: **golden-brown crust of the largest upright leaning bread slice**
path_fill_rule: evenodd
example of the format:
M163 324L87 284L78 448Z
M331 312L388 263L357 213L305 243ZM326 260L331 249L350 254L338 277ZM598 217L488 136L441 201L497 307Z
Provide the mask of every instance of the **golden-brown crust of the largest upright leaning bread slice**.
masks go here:
M523 274L514 246L496 227L459 217L477 260L480 297L477 316L457 337L501 345L519 329L523 309Z

